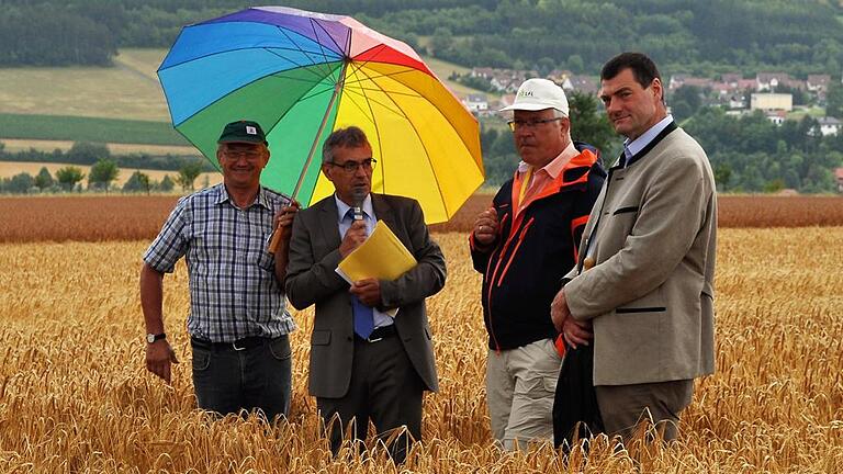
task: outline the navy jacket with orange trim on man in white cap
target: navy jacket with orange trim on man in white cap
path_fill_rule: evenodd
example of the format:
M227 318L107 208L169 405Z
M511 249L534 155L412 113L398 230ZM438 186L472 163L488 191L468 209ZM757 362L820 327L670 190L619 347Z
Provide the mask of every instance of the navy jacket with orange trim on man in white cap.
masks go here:
M488 347L508 350L557 339L550 303L577 260L577 246L606 171L595 148L574 143L580 155L513 221L518 173L493 200L498 236L480 249L469 237L474 269L483 273L483 317ZM516 196L518 194L515 194Z

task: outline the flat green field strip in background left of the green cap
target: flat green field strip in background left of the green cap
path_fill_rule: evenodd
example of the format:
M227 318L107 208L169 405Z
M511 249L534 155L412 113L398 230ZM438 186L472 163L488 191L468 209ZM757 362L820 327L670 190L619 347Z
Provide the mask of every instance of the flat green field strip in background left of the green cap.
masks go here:
M0 113L2 138L190 145L168 122Z

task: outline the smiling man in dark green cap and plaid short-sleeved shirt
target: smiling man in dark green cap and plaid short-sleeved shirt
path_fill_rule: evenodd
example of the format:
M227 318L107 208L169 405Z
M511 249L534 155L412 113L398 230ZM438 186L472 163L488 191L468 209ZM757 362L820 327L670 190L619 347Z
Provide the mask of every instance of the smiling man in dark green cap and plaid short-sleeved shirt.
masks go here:
M171 377L176 353L164 331L164 274L186 257L190 286L188 332L200 408L222 415L260 410L286 415L291 393L288 335L295 324L285 308L290 230L299 205L260 185L269 162L267 138L256 122L229 123L216 158L223 183L179 200L144 253L140 305L146 324L146 368ZM267 250L273 232L278 251Z

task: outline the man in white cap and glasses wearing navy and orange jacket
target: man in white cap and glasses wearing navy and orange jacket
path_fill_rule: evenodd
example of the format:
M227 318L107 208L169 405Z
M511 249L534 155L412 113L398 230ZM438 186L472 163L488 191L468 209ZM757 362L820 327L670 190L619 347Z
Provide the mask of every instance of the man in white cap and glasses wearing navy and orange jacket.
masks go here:
M597 150L571 140L567 98L547 79L518 89L509 127L521 162L469 242L483 273L488 331L486 399L504 449L550 441L564 345L550 304L577 258L578 242L606 173Z

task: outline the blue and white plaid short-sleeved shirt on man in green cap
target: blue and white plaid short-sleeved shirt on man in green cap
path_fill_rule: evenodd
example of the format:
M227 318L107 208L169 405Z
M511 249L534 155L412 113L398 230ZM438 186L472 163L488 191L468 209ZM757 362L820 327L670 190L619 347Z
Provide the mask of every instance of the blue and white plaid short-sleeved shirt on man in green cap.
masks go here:
M274 258L267 252L272 218L290 199L260 188L239 210L217 184L179 200L144 261L171 273L187 256L190 275L188 332L213 342L250 336L274 338L295 329Z

